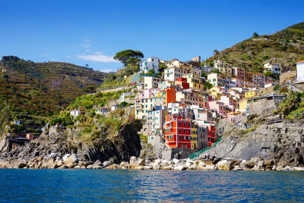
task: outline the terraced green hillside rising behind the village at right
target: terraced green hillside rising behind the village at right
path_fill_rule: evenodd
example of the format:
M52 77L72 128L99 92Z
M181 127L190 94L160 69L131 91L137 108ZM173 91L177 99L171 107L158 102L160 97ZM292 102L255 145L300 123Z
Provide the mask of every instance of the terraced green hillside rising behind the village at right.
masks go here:
M255 35L231 48L214 53L206 61L212 65L213 60L219 59L253 72L262 72L261 63L273 57L280 58L283 72L292 70L296 61L304 59L304 22L273 35Z

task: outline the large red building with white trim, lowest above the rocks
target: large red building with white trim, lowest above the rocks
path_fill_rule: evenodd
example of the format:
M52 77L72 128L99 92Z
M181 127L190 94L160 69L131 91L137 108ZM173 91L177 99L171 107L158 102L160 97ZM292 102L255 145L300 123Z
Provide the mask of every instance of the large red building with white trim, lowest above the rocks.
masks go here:
M166 116L165 138L171 148L191 148L191 119L169 115Z

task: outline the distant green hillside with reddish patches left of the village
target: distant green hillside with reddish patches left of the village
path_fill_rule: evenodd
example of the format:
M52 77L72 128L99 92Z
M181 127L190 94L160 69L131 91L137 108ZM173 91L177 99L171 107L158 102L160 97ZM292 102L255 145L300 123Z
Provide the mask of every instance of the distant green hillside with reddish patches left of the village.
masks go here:
M108 75L71 63L37 63L16 56L3 56L0 70L2 126L12 119L39 124L87 93L85 87L99 87Z

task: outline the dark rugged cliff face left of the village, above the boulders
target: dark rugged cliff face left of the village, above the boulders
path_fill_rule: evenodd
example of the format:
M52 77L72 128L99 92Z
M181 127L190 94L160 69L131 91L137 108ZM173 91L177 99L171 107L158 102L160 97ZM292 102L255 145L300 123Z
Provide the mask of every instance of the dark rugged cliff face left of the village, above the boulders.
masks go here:
M94 141L82 142L71 130L52 127L42 134L41 138L33 140L24 147L3 153L2 158L30 159L34 156L47 156L55 151L63 156L76 153L82 160L110 160L113 163L129 161L131 156L139 156L141 146L137 129L139 122L133 122L119 130L117 136L108 139L100 138Z

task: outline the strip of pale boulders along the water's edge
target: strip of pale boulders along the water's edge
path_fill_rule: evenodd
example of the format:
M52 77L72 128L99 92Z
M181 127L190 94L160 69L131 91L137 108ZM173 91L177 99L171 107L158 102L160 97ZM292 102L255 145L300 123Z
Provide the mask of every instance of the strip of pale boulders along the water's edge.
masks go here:
M156 159L154 161L136 158L132 156L129 162L113 164L111 161L95 162L81 160L76 154L66 154L62 158L57 154L47 157L36 156L26 161L24 159L0 159L0 168L80 168L80 169L133 169L133 170L223 170L223 171L304 171L304 167L290 167L278 162L276 159L263 160L262 158L251 158L241 160L233 158L206 158L203 154L194 159Z

